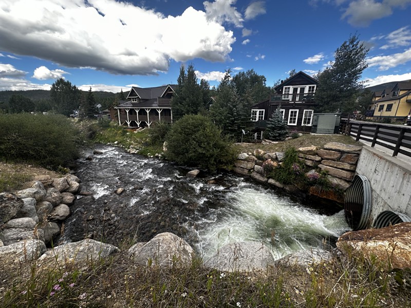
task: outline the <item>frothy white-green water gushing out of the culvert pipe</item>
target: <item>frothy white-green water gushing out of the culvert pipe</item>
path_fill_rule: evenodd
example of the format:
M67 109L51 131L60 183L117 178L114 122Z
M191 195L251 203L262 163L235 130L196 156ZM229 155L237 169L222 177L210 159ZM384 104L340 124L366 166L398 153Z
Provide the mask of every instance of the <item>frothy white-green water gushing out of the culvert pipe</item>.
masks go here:
M256 241L271 248L275 259L292 252L321 247L329 236L338 237L349 226L344 212L332 216L279 197L267 190L239 187L227 195L231 205L198 223L199 244L208 259L233 242Z

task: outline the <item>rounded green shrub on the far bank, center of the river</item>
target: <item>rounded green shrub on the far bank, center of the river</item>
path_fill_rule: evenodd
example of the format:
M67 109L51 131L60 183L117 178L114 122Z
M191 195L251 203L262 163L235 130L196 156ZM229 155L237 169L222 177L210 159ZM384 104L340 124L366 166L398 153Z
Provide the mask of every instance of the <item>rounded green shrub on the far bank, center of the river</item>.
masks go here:
M184 115L173 124L166 142L167 158L179 164L215 170L234 160L227 138L203 115Z

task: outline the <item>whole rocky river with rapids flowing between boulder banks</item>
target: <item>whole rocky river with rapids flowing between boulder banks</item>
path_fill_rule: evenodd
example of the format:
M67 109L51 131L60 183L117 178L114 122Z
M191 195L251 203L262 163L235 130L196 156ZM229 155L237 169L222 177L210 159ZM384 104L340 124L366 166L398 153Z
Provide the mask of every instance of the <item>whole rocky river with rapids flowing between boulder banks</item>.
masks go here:
M349 229L343 210L332 204L319 206L229 173L188 178L188 169L169 162L113 146L96 149L102 154L87 160L92 150L86 150L78 161L83 196L71 206L61 243L88 237L121 246L172 232L204 260L237 241L263 242L278 259L332 246ZM118 188L124 188L120 195Z

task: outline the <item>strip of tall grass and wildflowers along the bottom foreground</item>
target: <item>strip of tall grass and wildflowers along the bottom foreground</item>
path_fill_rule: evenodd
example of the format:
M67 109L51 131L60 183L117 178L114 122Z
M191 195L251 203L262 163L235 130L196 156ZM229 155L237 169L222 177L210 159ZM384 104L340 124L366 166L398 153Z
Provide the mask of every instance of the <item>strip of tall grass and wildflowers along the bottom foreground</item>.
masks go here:
M307 268L264 273L136 265L121 252L75 268L40 271L7 285L2 307L406 307L410 271L391 271L377 258L335 257ZM409 306L409 305L408 305Z

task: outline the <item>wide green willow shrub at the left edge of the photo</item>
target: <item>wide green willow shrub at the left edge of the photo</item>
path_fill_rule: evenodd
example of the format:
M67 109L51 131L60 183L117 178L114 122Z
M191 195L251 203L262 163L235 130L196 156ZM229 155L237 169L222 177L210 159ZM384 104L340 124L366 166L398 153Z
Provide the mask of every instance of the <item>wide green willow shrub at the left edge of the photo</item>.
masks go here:
M79 131L63 115L0 114L0 157L50 169L79 157Z

